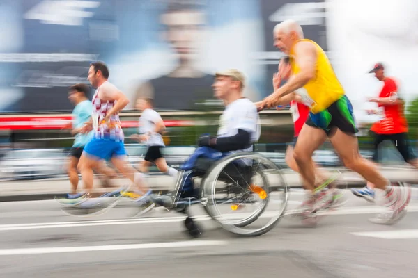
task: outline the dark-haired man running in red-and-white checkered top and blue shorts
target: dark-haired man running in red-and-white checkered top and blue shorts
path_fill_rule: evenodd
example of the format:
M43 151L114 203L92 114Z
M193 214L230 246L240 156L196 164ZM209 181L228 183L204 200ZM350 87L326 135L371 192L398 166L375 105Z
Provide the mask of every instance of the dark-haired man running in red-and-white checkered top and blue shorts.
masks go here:
M84 147L79 161L79 169L82 172L86 190L86 193L80 197L81 199L91 197L93 169L104 160L110 160L123 176L137 186L141 195L151 192L144 187L142 174L135 171L132 165L125 160L127 152L125 151L125 136L119 119L119 111L129 103L129 100L107 79L109 79L107 65L102 62L91 63L88 70L88 81L98 89L93 95L91 121L82 128L82 133L93 130L94 135L93 139Z

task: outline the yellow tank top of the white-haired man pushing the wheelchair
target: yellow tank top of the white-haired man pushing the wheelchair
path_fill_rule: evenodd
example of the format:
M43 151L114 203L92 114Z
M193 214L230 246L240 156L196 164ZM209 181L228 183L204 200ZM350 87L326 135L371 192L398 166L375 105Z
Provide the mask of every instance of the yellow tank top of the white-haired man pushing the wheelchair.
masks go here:
M336 74L332 69L332 65L325 51L316 42L308 39L303 40L312 42L315 45L318 59L316 61L316 76L305 84L303 88L297 90L297 92L304 95L302 97L309 99L308 102L311 102L310 108L312 113L319 113L340 99L344 95L344 89L336 78ZM298 40L297 42L300 41L302 40ZM294 45L291 51L289 51L289 56L291 56L292 74L297 74L300 72L300 68L295 63L295 59L292 58L295 57Z

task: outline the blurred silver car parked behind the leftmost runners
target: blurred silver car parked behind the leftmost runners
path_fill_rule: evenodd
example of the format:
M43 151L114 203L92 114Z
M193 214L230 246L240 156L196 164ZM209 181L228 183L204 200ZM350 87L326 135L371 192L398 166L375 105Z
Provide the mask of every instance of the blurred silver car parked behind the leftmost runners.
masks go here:
M13 149L0 161L0 179L37 179L65 174L63 149Z

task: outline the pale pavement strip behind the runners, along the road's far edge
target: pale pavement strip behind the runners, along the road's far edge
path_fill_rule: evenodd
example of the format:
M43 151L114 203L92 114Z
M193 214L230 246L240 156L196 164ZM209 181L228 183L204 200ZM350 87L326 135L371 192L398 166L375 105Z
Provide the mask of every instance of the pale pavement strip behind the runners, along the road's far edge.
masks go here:
M327 168L324 168L326 170ZM335 170L335 169L330 169ZM346 168L338 168L336 170L343 173L343 180L350 187L360 187L365 185L364 179L359 174L347 170ZM392 180L401 180L409 183L418 183L418 172L411 167L380 167L382 174ZM284 179L291 187L300 188L301 179L298 174L292 170L284 170ZM171 177L164 175L151 175L148 184L155 190L171 190L174 186ZM130 184L127 179L114 179L111 181L112 188L106 190L114 190L118 187ZM82 181L79 183L82 188ZM37 200L52 199L54 196L62 196L68 193L70 189L70 181L67 178L40 179L36 181L1 181L0 182L0 202L20 201L20 200ZM100 188L100 180L95 179L95 190L103 192Z

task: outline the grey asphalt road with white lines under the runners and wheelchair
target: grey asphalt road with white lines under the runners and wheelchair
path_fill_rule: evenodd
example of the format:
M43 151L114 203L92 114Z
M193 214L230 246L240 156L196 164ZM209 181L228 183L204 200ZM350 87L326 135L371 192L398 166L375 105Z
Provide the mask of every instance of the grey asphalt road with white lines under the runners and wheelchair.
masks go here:
M369 222L379 208L347 193L315 228L284 218L268 234L233 236L212 220L191 239L183 215L132 207L65 215L54 200L0 203L0 277L417 277L418 191L394 226ZM302 192L291 193L289 208ZM201 206L194 215L205 215Z

